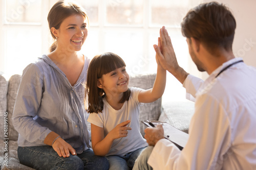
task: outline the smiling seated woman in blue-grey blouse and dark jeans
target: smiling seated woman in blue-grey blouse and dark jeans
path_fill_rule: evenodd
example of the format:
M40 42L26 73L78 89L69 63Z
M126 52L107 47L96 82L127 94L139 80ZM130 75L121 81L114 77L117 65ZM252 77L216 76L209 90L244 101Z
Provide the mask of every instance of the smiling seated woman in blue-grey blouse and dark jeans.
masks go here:
M89 149L84 87L90 60L77 53L87 38L80 6L57 2L48 14L51 53L28 65L13 112L20 163L35 169L108 169ZM71 154L70 154L71 153Z

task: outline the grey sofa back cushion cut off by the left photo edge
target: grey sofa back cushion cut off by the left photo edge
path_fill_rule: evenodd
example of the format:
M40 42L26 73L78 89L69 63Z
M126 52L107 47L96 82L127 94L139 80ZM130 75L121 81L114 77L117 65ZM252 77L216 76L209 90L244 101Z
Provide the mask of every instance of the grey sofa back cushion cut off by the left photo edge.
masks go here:
M0 75L0 138L4 138L4 113L7 111L7 88L8 88L8 82L6 79Z

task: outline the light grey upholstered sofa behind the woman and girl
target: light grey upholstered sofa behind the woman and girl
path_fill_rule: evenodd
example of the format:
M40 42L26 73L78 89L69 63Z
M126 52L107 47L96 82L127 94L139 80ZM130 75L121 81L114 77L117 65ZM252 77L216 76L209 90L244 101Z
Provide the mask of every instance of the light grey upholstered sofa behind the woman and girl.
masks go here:
M131 76L129 86L143 89L152 88L155 74ZM0 169L33 169L19 163L17 157L18 133L12 126L12 112L21 76L13 75L9 80L0 75ZM188 132L189 121L194 113L192 102L172 102L162 105L161 99L144 104L140 108L140 120L160 120ZM8 116L7 116L8 115ZM7 116L8 119L5 117ZM4 121L8 120L8 127ZM8 128L8 129L7 129ZM144 136L143 124L140 125ZM8 132L8 136L6 133ZM7 138L8 139L5 139ZM8 140L8 142L5 142ZM8 145L6 145L8 144ZM8 152L6 152L8 150Z

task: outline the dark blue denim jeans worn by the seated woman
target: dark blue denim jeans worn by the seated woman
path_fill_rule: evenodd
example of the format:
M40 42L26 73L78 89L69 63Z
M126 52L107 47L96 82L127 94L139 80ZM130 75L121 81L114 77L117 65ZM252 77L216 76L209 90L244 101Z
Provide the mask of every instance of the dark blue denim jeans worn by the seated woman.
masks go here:
M108 160L94 155L91 149L63 158L51 146L18 147L18 158L34 169L109 169Z

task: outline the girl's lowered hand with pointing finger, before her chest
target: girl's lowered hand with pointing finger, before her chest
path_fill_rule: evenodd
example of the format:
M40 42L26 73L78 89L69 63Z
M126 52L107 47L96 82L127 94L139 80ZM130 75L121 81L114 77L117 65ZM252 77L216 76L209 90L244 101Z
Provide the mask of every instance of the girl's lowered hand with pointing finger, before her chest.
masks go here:
M131 120L126 120L125 122L118 124L112 131L110 131L109 135L111 138L114 140L120 137L126 137L128 130L132 130L131 127L126 127L130 122Z

